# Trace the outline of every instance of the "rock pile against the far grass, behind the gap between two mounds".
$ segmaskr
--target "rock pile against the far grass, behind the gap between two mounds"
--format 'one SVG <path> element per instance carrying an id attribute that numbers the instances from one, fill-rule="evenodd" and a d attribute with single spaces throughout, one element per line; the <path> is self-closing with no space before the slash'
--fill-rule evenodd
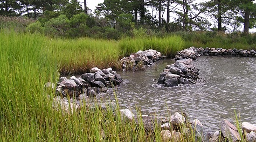
<path id="1" fill-rule="evenodd" d="M 130 54 L 130 57 L 123 57 L 121 59 L 123 69 L 143 69 L 146 66 L 153 65 L 155 62 L 160 61 L 163 57 L 161 53 L 149 49 L 145 51 L 137 51 L 137 53 Z"/>

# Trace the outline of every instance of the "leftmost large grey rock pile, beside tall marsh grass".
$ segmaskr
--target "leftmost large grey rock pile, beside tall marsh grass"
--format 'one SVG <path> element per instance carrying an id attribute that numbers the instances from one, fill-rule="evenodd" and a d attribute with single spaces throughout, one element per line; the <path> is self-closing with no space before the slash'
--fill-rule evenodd
<path id="1" fill-rule="evenodd" d="M 61 77 L 56 88 L 57 95 L 70 98 L 79 97 L 81 94 L 96 96 L 99 92 L 106 92 L 107 88 L 120 85 L 122 78 L 112 68 L 100 70 L 92 68 L 90 73 L 84 73 L 80 77 L 72 76 L 70 79 Z"/>

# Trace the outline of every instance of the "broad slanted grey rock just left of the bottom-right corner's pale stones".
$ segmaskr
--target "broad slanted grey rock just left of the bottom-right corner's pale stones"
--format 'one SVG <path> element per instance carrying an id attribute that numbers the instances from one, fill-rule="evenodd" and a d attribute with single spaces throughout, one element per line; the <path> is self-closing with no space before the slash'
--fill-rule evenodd
<path id="1" fill-rule="evenodd" d="M 238 130 L 236 128 L 236 126 L 234 126 L 233 124 L 231 124 L 229 121 L 227 121 L 226 119 L 223 119 L 220 122 L 220 130 L 223 134 L 223 137 L 232 140 L 232 141 L 238 141 L 241 140 L 241 137 L 238 133 Z"/>

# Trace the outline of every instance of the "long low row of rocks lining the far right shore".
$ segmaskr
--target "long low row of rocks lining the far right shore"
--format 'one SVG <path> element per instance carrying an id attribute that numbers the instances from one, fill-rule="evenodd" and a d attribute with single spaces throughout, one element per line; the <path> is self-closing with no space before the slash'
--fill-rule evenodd
<path id="1" fill-rule="evenodd" d="M 242 56 L 242 57 L 256 57 L 256 51 L 255 50 L 243 50 L 243 49 L 224 49 L 224 48 L 195 48 L 190 47 L 188 49 L 179 51 L 176 56 L 175 60 L 178 59 L 184 59 L 184 58 L 191 58 L 193 60 L 196 60 L 197 57 L 200 55 L 206 55 L 206 56 Z"/>

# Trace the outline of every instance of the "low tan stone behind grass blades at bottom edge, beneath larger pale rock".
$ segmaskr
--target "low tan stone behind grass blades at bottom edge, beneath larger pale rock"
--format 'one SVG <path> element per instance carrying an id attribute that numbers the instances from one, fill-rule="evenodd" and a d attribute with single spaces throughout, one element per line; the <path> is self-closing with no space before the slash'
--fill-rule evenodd
<path id="1" fill-rule="evenodd" d="M 175 131 L 170 130 L 162 130 L 161 132 L 161 139 L 163 142 L 165 141 L 181 141 L 182 134 Z"/>

